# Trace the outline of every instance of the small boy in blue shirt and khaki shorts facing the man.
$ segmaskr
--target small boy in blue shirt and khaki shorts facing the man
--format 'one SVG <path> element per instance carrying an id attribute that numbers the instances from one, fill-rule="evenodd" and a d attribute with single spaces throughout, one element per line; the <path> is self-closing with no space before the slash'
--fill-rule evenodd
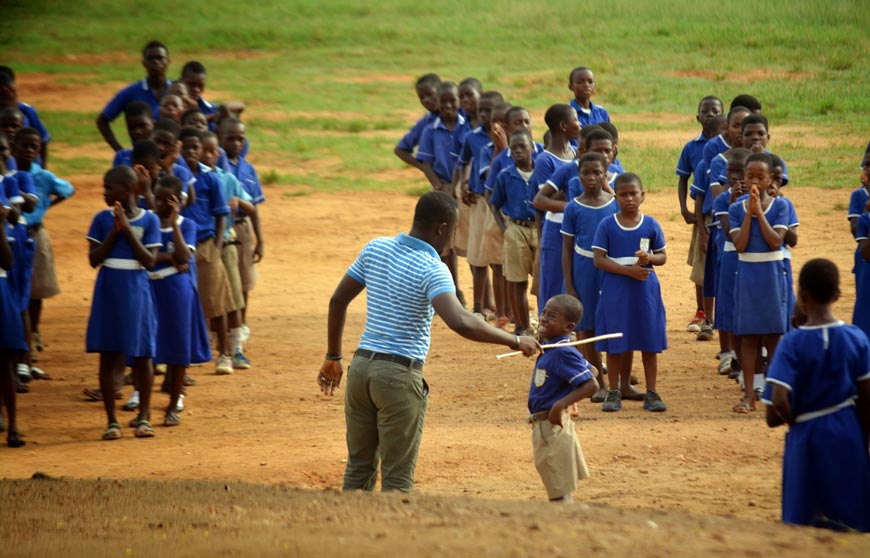
<path id="1" fill-rule="evenodd" d="M 538 335 L 547 343 L 567 343 L 582 315 L 583 306 L 576 298 L 556 295 L 541 312 Z M 572 346 L 549 349 L 535 362 L 529 386 L 529 423 L 535 468 L 551 502 L 570 502 L 577 481 L 589 477 L 568 409 L 595 393 L 597 373 Z"/>

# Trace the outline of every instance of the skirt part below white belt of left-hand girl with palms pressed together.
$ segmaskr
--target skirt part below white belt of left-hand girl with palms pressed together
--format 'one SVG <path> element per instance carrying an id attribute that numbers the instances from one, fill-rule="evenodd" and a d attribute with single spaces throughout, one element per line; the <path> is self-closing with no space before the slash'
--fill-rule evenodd
<path id="1" fill-rule="evenodd" d="M 88 319 L 87 352 L 153 357 L 156 338 L 157 314 L 148 273 L 101 267 Z"/>

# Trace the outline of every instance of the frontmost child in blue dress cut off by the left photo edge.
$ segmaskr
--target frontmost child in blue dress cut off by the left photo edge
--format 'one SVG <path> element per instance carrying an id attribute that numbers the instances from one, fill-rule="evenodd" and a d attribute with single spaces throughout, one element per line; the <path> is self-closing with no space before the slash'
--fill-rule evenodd
<path id="1" fill-rule="evenodd" d="M 14 266 L 11 244 L 15 243 L 15 238 L 8 222 L 10 210 L 11 203 L 6 198 L 5 189 L 0 187 L 0 323 L 3 325 L 0 327 L 0 396 L 3 398 L 2 406 L 6 408 L 6 445 L 18 448 L 25 442 L 18 432 L 15 365 L 18 353 L 27 350 L 27 341 L 7 275 Z M 0 416 L 0 423 L 2 419 Z"/>

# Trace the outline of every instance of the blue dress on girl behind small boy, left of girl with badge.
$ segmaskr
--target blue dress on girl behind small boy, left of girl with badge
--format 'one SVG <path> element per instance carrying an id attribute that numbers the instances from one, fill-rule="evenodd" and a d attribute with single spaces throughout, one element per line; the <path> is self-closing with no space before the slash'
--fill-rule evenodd
<path id="1" fill-rule="evenodd" d="M 615 198 L 599 207 L 582 204 L 576 198 L 565 206 L 562 234 L 574 239 L 574 290 L 583 304 L 583 317 L 575 328 L 577 331 L 595 329 L 595 310 L 598 307 L 604 272 L 592 263 L 592 241 L 595 239 L 598 224 L 617 211 L 619 206 Z"/>

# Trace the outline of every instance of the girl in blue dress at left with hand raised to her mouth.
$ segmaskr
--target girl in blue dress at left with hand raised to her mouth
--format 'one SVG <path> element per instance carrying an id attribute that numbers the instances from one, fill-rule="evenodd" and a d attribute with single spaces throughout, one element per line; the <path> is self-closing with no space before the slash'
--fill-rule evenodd
<path id="1" fill-rule="evenodd" d="M 169 405 L 164 426 L 178 426 L 178 401 L 187 367 L 211 360 L 208 329 L 199 302 L 196 278 L 190 273 L 196 251 L 196 224 L 180 213 L 181 181 L 160 179 L 154 193 L 160 218 L 161 246 L 148 276 L 157 312 L 156 358 L 167 365 Z"/>

